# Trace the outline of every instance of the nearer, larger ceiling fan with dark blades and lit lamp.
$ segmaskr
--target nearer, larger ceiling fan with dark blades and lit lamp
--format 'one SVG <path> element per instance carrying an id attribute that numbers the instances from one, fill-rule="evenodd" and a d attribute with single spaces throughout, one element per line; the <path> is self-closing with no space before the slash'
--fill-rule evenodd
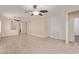
<path id="1" fill-rule="evenodd" d="M 24 11 L 25 11 L 25 13 L 32 12 L 31 16 L 33 16 L 33 15 L 43 16 L 43 13 L 47 13 L 48 12 L 48 10 L 40 10 L 40 11 L 38 11 L 37 5 L 33 5 L 33 11 L 32 10 L 24 10 Z"/>

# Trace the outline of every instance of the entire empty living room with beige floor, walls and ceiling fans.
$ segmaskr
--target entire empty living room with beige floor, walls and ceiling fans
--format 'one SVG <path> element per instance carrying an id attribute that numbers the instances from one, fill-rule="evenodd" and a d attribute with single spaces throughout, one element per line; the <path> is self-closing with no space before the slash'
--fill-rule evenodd
<path id="1" fill-rule="evenodd" d="M 0 54 L 79 53 L 79 5 L 0 5 Z"/>

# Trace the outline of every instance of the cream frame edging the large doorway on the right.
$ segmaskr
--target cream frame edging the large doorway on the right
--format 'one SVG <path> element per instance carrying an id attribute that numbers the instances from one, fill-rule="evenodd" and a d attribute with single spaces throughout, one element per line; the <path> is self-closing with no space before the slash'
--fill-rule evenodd
<path id="1" fill-rule="evenodd" d="M 78 11 L 79 10 L 79 8 L 77 8 L 77 9 L 73 9 L 73 10 L 69 10 L 69 11 L 66 11 L 66 41 L 65 41 L 65 43 L 66 44 L 68 44 L 69 43 L 69 33 L 70 33 L 70 31 L 69 31 L 69 13 L 72 13 L 72 12 L 75 12 L 75 11 Z M 73 24 L 72 24 L 73 25 Z M 72 31 L 72 30 L 71 30 Z M 72 31 L 72 33 L 74 33 L 74 31 Z M 72 36 L 74 36 L 74 34 L 72 34 Z M 74 39 L 74 37 L 71 37 L 73 40 L 75 40 Z M 73 41 L 74 42 L 74 41 Z"/>

